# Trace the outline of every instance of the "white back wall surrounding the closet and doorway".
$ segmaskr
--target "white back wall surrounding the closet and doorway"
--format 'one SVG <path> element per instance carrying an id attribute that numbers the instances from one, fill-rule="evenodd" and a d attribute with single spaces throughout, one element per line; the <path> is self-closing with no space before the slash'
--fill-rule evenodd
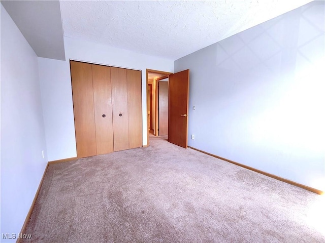
<path id="1" fill-rule="evenodd" d="M 64 37 L 66 61 L 39 58 L 48 159 L 76 155 L 69 60 L 142 70 L 143 144 L 147 144 L 146 68 L 174 71 L 174 61 Z"/>

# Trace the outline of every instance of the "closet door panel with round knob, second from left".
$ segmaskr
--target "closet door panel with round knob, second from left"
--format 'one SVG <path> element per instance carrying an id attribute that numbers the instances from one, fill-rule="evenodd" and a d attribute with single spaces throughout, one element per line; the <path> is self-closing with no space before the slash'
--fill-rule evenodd
<path id="1" fill-rule="evenodd" d="M 97 154 L 111 153 L 113 146 L 111 69 L 92 64 L 92 87 Z"/>

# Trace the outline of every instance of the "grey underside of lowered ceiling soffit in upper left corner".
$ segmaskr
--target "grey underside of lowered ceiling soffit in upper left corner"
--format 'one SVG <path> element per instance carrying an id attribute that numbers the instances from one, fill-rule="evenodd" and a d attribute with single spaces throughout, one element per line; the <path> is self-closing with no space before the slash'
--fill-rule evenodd
<path id="1" fill-rule="evenodd" d="M 66 60 L 58 0 L 1 3 L 38 57 Z"/>

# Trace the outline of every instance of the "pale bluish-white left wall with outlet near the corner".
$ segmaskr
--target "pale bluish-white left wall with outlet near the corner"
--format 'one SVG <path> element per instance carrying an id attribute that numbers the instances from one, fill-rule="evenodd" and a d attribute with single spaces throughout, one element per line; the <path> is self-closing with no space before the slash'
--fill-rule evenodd
<path id="1" fill-rule="evenodd" d="M 0 237 L 20 232 L 46 164 L 37 56 L 1 5 Z"/>

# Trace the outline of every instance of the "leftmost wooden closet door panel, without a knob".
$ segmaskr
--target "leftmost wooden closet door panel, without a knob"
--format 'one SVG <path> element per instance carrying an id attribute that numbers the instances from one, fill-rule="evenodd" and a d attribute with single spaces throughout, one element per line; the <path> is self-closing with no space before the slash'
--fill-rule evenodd
<path id="1" fill-rule="evenodd" d="M 71 61 L 77 156 L 96 155 L 91 64 Z"/>

